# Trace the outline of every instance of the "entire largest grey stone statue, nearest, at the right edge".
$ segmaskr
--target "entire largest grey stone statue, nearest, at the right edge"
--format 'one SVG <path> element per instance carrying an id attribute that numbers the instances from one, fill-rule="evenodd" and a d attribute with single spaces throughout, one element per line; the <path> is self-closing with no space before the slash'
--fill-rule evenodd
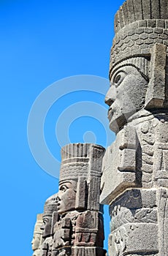
<path id="1" fill-rule="evenodd" d="M 101 203 L 110 205 L 110 256 L 168 255 L 168 2 L 127 0 L 115 15 L 110 129 Z"/>

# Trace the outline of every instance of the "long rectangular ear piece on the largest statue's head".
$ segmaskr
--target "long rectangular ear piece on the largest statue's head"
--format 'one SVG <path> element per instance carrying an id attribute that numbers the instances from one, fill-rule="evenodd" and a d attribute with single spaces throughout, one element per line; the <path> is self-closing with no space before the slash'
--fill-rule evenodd
<path id="1" fill-rule="evenodd" d="M 164 108 L 166 100 L 167 46 L 156 44 L 151 48 L 150 81 L 145 108 Z"/>

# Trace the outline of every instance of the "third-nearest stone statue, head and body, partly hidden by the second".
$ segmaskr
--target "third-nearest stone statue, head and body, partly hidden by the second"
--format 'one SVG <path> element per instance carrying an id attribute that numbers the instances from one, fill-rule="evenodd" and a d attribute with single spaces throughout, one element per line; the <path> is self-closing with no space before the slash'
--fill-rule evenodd
<path id="1" fill-rule="evenodd" d="M 41 226 L 41 230 L 44 241 L 40 247 L 39 256 L 51 256 L 53 246 L 53 225 L 57 219 L 57 194 L 54 194 L 46 200 L 44 214 L 42 214 L 43 225 Z"/>

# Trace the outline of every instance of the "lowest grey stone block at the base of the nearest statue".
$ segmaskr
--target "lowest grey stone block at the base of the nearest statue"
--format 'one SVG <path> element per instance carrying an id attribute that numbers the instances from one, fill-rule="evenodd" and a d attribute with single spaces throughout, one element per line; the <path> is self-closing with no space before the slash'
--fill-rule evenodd
<path id="1" fill-rule="evenodd" d="M 113 255 L 159 252 L 158 227 L 155 224 L 126 224 L 109 236 L 109 252 Z"/>

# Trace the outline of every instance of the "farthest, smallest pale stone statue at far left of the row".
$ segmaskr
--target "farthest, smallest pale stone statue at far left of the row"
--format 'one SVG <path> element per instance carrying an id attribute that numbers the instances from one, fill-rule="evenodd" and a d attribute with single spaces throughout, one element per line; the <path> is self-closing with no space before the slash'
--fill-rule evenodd
<path id="1" fill-rule="evenodd" d="M 34 226 L 34 238 L 31 241 L 32 249 L 34 251 L 33 256 L 39 256 L 39 247 L 42 244 L 42 214 L 37 214 L 37 222 Z"/>

